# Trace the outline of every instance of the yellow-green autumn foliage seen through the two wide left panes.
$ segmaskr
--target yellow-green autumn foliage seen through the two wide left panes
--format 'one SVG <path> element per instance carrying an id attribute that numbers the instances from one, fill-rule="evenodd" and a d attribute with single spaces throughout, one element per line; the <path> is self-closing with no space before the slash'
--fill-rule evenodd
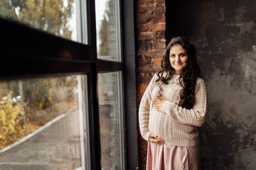
<path id="1" fill-rule="evenodd" d="M 71 39 L 73 31 L 69 21 L 73 17 L 74 2 L 75 0 L 0 1 L 0 17 Z M 17 103 L 13 98 L 21 95 L 18 81 L 0 82 L 0 149 L 33 132 L 38 125 L 43 125 L 35 113 L 52 105 L 49 89 L 53 83 L 53 79 L 23 81 L 23 102 Z"/>

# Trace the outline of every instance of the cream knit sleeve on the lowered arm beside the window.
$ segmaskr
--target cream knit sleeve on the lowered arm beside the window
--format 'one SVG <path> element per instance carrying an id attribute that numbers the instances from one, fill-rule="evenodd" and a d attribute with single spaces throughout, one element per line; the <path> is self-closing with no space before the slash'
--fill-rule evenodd
<path id="1" fill-rule="evenodd" d="M 154 77 L 149 82 L 149 86 L 147 86 L 146 91 L 142 96 L 142 101 L 139 105 L 139 130 L 142 134 L 144 140 L 149 141 L 149 110 L 151 103 L 151 92 L 156 86 L 157 75 L 154 74 Z"/>

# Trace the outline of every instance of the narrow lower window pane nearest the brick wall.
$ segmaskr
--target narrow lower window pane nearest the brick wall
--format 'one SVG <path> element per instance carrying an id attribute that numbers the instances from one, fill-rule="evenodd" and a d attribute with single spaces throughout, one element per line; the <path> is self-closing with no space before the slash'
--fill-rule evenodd
<path id="1" fill-rule="evenodd" d="M 102 169 L 124 169 L 121 72 L 98 74 Z"/>

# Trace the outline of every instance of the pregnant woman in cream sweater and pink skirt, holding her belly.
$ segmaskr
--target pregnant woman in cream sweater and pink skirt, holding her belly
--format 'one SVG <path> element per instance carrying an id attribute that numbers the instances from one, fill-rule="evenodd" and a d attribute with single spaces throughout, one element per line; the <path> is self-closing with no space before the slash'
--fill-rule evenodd
<path id="1" fill-rule="evenodd" d="M 171 39 L 139 106 L 139 127 L 147 140 L 146 169 L 201 169 L 198 128 L 206 120 L 206 84 L 196 50 L 182 37 Z"/>

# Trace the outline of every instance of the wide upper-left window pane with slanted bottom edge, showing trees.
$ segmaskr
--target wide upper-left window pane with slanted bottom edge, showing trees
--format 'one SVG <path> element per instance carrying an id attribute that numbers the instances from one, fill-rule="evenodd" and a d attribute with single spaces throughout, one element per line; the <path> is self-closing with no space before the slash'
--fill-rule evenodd
<path id="1" fill-rule="evenodd" d="M 85 4 L 80 4 L 80 0 L 1 0 L 0 16 L 82 42 L 81 5 Z"/>

